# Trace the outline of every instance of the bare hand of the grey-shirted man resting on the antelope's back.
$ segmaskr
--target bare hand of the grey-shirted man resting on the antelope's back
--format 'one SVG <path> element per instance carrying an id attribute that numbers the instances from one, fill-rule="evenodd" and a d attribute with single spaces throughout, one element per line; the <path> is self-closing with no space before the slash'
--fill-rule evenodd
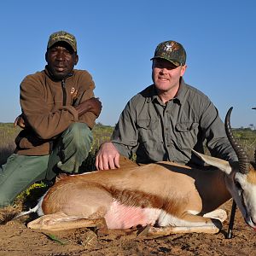
<path id="1" fill-rule="evenodd" d="M 119 152 L 113 143 L 103 143 L 96 154 L 96 169 L 109 170 L 119 168 Z"/>

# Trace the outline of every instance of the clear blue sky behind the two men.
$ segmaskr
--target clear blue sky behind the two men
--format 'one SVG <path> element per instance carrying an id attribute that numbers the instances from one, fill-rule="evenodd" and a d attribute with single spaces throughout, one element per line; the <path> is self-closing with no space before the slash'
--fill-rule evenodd
<path id="1" fill-rule="evenodd" d="M 177 40 L 187 51 L 185 82 L 210 97 L 220 117 L 234 107 L 234 127 L 256 125 L 256 1 L 3 1 L 0 122 L 20 113 L 19 86 L 44 69 L 49 34 L 78 40 L 79 64 L 102 100 L 97 122 L 114 125 L 126 102 L 152 83 L 157 44 Z"/>

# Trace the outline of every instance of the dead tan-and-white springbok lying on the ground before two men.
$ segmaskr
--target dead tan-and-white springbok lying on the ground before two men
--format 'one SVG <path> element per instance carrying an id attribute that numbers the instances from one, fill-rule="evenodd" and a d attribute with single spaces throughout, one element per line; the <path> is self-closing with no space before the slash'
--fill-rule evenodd
<path id="1" fill-rule="evenodd" d="M 41 216 L 32 229 L 67 230 L 79 227 L 128 229 L 147 227 L 150 236 L 178 232 L 217 233 L 227 217 L 218 209 L 231 197 L 246 223 L 256 230 L 256 172 L 230 128 L 225 128 L 238 162 L 195 154 L 212 168 L 200 170 L 162 161 L 60 177 L 38 205 L 25 212 Z M 216 168 L 217 167 L 217 168 Z"/>

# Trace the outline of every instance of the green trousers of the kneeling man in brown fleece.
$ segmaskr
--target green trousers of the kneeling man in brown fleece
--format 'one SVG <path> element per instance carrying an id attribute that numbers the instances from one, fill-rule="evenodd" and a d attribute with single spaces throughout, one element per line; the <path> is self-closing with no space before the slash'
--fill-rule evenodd
<path id="1" fill-rule="evenodd" d="M 73 123 L 55 142 L 51 154 L 11 154 L 6 164 L 0 167 L 0 207 L 12 204 L 15 197 L 32 183 L 51 180 L 59 172 L 79 172 L 91 143 L 90 128 L 83 123 Z"/>

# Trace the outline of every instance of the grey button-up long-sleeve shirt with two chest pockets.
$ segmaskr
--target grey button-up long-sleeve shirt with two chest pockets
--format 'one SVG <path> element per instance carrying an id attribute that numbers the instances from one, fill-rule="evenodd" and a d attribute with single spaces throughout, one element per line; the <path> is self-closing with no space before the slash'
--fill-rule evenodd
<path id="1" fill-rule="evenodd" d="M 126 104 L 113 131 L 119 154 L 137 154 L 138 163 L 170 160 L 202 165 L 191 148 L 203 153 L 206 142 L 212 156 L 237 160 L 225 135 L 218 110 L 200 90 L 181 79 L 177 96 L 163 104 L 154 84 Z"/>

